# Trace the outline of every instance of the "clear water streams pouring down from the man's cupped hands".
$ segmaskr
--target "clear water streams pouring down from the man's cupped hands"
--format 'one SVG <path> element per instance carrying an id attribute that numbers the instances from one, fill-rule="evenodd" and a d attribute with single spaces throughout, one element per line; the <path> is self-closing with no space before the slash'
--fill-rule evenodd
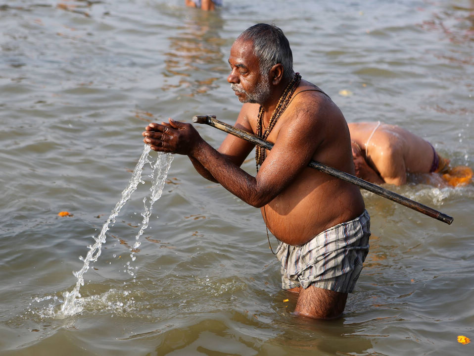
<path id="1" fill-rule="evenodd" d="M 148 227 L 148 221 L 151 215 L 151 208 L 153 206 L 153 203 L 156 202 L 158 199 L 160 199 L 161 194 L 163 193 L 165 180 L 168 175 L 171 162 L 173 161 L 172 154 L 158 153 L 156 160 L 153 162 L 151 159 L 151 156 L 149 155 L 149 152 L 150 152 L 150 147 L 148 145 L 145 145 L 143 148 L 143 153 L 132 173 L 132 178 L 130 179 L 129 185 L 122 192 L 122 197 L 120 201 L 112 209 L 110 216 L 108 217 L 107 221 L 102 226 L 102 230 L 100 231 L 100 234 L 97 237 L 95 236 L 93 237 L 95 240 L 95 244 L 92 246 L 88 246 L 89 251 L 85 258 L 82 256 L 79 257 L 79 259 L 84 261 L 84 265 L 79 271 L 73 272 L 74 276 L 76 276 L 77 278 L 76 285 L 71 292 L 64 292 L 63 294 L 64 302 L 61 305 L 61 309 L 58 311 L 57 316 L 64 317 L 67 315 L 75 314 L 80 311 L 80 307 L 76 306 L 75 302 L 78 298 L 81 298 L 79 289 L 81 288 L 81 286 L 84 285 L 83 276 L 89 270 L 89 264 L 91 262 L 95 262 L 97 258 L 100 256 L 101 247 L 102 247 L 102 244 L 105 243 L 105 240 L 106 240 L 105 234 L 109 230 L 109 225 L 115 223 L 115 218 L 117 217 L 117 215 L 119 214 L 120 210 L 125 205 L 125 203 L 127 203 L 127 201 L 130 199 L 130 197 L 132 196 L 132 193 L 137 189 L 138 184 L 145 183 L 142 180 L 142 171 L 143 171 L 143 166 L 148 163 L 151 166 L 151 174 L 150 174 L 151 195 L 149 199 L 147 199 L 146 197 L 143 198 L 144 208 L 142 211 L 142 217 L 143 217 L 142 227 L 135 237 L 136 242 L 134 246 L 131 248 L 131 254 L 130 254 L 130 256 L 132 257 L 132 261 L 135 260 L 135 255 L 134 255 L 135 251 L 141 245 L 139 238 L 140 236 L 142 236 L 144 230 Z M 127 272 L 131 276 L 133 276 L 135 279 L 135 273 L 132 271 L 133 267 L 130 266 L 130 262 L 127 262 L 126 266 L 127 266 Z"/>

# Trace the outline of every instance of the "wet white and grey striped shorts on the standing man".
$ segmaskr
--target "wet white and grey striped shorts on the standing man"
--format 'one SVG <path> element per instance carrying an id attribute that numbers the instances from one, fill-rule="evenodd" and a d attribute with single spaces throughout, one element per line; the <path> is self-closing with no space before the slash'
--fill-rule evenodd
<path id="1" fill-rule="evenodd" d="M 335 225 L 301 246 L 280 242 L 282 288 L 314 286 L 352 293 L 369 253 L 370 216 L 367 210 L 357 218 Z"/>

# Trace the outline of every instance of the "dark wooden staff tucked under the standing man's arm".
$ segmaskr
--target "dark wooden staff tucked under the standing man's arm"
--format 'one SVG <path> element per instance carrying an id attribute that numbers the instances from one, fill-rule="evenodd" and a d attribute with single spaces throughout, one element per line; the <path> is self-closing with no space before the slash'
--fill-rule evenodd
<path id="1" fill-rule="evenodd" d="M 216 119 L 216 115 L 196 115 L 192 118 L 192 122 L 198 124 L 207 124 L 209 126 L 215 127 L 216 129 L 225 131 L 231 135 L 237 136 L 243 140 L 249 141 L 255 145 L 261 146 L 267 150 L 271 150 L 273 144 L 268 142 L 258 136 L 250 134 L 246 131 L 237 129 L 236 127 L 226 124 L 225 122 L 219 121 Z M 442 212 L 430 208 L 429 206 L 423 205 L 421 203 L 415 202 L 411 199 L 408 199 L 404 196 L 401 196 L 397 193 L 391 192 L 385 188 L 382 188 L 376 184 L 369 183 L 363 179 L 353 176 L 352 174 L 342 172 L 330 166 L 327 166 L 323 163 L 316 162 L 312 160 L 309 164 L 310 167 L 315 168 L 321 172 L 329 174 L 333 177 L 340 178 L 346 182 L 355 184 L 356 186 L 368 190 L 369 192 L 375 193 L 383 198 L 389 199 L 395 203 L 402 204 L 406 207 L 409 207 L 413 210 L 421 212 L 425 215 L 428 215 L 434 219 L 445 222 L 448 225 L 451 225 L 453 218 L 449 215 L 443 214 Z"/>

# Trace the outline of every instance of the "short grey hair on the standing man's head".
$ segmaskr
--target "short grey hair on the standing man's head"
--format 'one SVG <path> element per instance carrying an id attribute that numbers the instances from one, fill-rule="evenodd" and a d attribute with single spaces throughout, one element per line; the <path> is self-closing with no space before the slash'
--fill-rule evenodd
<path id="1" fill-rule="evenodd" d="M 261 74 L 267 75 L 275 64 L 281 63 L 283 78 L 293 78 L 293 53 L 280 28 L 258 23 L 243 31 L 237 40 L 253 42 L 253 54 L 259 60 Z"/>

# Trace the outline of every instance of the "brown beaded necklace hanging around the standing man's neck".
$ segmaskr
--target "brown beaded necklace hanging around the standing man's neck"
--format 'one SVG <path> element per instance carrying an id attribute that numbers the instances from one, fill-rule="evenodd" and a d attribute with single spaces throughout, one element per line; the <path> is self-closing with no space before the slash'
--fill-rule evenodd
<path id="1" fill-rule="evenodd" d="M 262 126 L 263 126 L 263 114 L 265 113 L 265 110 L 260 105 L 260 109 L 258 110 L 257 130 L 256 130 L 256 134 L 258 137 L 261 137 L 264 140 L 267 139 L 273 127 L 277 123 L 277 120 L 280 118 L 280 116 L 282 116 L 284 110 L 286 109 L 289 102 L 291 101 L 290 99 L 293 96 L 293 93 L 298 87 L 300 82 L 301 82 L 301 75 L 299 75 L 299 73 L 296 73 L 293 79 L 291 80 L 291 82 L 289 82 L 286 88 L 284 89 L 284 92 L 282 96 L 280 97 L 280 100 L 278 101 L 277 107 L 275 107 L 275 111 L 273 111 L 273 114 L 270 117 L 270 121 L 268 122 L 268 127 L 265 128 L 265 132 L 263 132 L 263 134 L 262 134 L 262 131 L 263 131 Z M 258 172 L 258 166 L 262 165 L 264 159 L 265 159 L 265 149 L 263 147 L 257 146 L 255 148 L 255 165 L 257 167 L 257 172 Z M 267 212 L 265 211 L 265 206 L 263 207 L 263 212 L 265 215 L 265 227 L 267 229 L 268 246 L 270 247 L 270 250 L 272 251 L 272 253 L 275 254 L 275 252 L 272 249 L 272 245 L 270 244 L 270 237 L 268 235 Z"/>

